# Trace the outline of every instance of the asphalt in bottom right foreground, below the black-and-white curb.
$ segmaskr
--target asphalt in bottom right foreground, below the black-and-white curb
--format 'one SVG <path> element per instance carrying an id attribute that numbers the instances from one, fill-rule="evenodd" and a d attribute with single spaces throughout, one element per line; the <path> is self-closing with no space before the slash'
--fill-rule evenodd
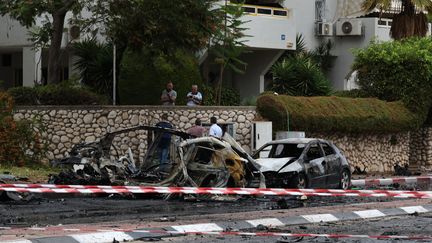
<path id="1" fill-rule="evenodd" d="M 273 232 L 281 233 L 314 233 L 314 234 L 359 234 L 359 235 L 417 235 L 432 236 L 432 214 L 422 214 L 419 216 L 390 217 L 374 220 L 356 220 L 332 223 L 320 223 L 307 226 L 290 226 L 273 229 Z M 259 232 L 259 231 L 257 231 Z M 376 240 L 376 239 L 329 239 L 323 237 L 251 237 L 251 236 L 183 236 L 173 238 L 163 238 L 163 242 L 350 242 L 350 243 L 369 243 L 369 242 L 431 242 L 430 240 Z M 136 241 L 136 242 L 146 242 Z"/>

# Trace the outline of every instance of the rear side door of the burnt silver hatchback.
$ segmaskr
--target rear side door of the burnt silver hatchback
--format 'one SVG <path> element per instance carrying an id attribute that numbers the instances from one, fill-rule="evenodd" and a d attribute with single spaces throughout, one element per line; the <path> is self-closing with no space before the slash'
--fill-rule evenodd
<path id="1" fill-rule="evenodd" d="M 340 157 L 327 142 L 322 141 L 320 144 L 324 151 L 324 159 L 326 161 L 327 185 L 332 187 L 337 186 L 339 185 L 342 163 Z"/>

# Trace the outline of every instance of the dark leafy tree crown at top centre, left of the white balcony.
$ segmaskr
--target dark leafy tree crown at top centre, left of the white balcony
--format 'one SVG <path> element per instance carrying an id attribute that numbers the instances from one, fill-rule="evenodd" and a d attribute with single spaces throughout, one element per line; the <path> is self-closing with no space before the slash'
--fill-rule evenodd
<path id="1" fill-rule="evenodd" d="M 213 7 L 216 2 L 98 0 L 86 6 L 92 17 L 79 22 L 104 26 L 101 32 L 116 45 L 118 64 L 123 63 L 127 50 L 143 51 L 152 60 L 161 56 L 177 60 L 179 51 L 195 53 L 206 46 L 220 21 L 219 10 Z M 122 68 L 117 69 L 118 77 Z M 173 81 L 176 82 L 175 77 Z"/>

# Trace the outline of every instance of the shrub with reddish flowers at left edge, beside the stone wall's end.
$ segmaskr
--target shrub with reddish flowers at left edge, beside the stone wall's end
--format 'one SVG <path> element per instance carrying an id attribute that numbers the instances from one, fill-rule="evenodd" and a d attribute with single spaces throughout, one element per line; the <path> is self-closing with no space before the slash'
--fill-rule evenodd
<path id="1" fill-rule="evenodd" d="M 0 164 L 32 165 L 40 163 L 46 152 L 39 132 L 41 122 L 36 119 L 15 121 L 13 99 L 0 92 Z"/>

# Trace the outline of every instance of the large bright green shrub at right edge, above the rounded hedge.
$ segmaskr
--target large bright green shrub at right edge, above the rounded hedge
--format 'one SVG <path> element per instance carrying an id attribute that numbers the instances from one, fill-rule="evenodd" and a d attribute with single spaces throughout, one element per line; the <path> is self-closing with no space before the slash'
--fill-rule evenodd
<path id="1" fill-rule="evenodd" d="M 432 103 L 432 39 L 372 43 L 355 51 L 361 89 L 386 101 L 401 100 L 426 117 Z"/>

